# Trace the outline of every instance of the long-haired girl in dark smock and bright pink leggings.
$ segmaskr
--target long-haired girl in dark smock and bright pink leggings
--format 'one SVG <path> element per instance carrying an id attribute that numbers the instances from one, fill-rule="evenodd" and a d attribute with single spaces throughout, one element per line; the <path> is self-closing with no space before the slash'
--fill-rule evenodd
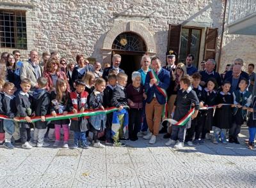
<path id="1" fill-rule="evenodd" d="M 56 82 L 56 89 L 51 92 L 51 101 L 52 108 L 51 113 L 54 117 L 57 116 L 57 113 L 63 113 L 66 115 L 67 112 L 67 103 L 69 99 L 69 94 L 67 90 L 67 82 L 63 79 L 58 79 Z M 68 148 L 68 137 L 69 137 L 69 129 L 68 124 L 70 123 L 69 119 L 63 120 L 54 120 L 51 122 L 55 127 L 55 142 L 53 147 L 58 147 L 60 145 L 60 129 L 63 128 L 64 132 L 64 141 L 63 148 Z"/>

